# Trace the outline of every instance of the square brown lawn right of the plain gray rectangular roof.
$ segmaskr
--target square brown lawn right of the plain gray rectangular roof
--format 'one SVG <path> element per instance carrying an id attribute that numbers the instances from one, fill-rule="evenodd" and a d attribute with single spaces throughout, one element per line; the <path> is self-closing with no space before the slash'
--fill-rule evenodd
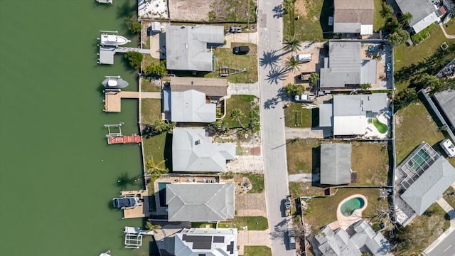
<path id="1" fill-rule="evenodd" d="M 352 142 L 351 163 L 353 171 L 357 171 L 357 183 L 350 185 L 387 185 L 387 143 Z"/>

